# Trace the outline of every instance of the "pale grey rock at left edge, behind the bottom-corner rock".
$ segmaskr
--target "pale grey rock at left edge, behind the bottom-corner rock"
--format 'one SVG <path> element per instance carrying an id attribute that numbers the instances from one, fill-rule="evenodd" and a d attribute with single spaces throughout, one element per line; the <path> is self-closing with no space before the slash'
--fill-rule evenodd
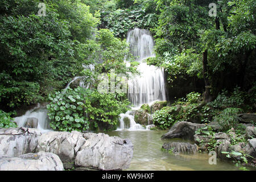
<path id="1" fill-rule="evenodd" d="M 27 127 L 0 128 L 0 156 L 20 156 L 35 152 L 42 133 Z"/>

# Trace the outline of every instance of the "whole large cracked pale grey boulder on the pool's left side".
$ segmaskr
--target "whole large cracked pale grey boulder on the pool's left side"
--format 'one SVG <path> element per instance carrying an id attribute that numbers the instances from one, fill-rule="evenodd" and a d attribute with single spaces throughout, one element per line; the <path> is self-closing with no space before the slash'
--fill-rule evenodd
<path id="1" fill-rule="evenodd" d="M 133 157 L 133 145 L 129 139 L 78 131 L 42 134 L 37 151 L 58 155 L 64 166 L 75 163 L 76 167 L 98 170 L 129 168 Z"/>

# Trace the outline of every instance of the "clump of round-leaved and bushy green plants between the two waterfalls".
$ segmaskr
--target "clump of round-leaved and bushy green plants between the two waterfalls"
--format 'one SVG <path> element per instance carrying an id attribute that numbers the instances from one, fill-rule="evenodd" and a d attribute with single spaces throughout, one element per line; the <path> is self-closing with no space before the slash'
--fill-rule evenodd
<path id="1" fill-rule="evenodd" d="M 116 126 L 119 114 L 125 113 L 129 105 L 120 97 L 81 87 L 56 92 L 49 96 L 51 102 L 47 105 L 50 126 L 59 131 L 86 131 L 90 123 L 97 128 L 100 122 Z"/>

